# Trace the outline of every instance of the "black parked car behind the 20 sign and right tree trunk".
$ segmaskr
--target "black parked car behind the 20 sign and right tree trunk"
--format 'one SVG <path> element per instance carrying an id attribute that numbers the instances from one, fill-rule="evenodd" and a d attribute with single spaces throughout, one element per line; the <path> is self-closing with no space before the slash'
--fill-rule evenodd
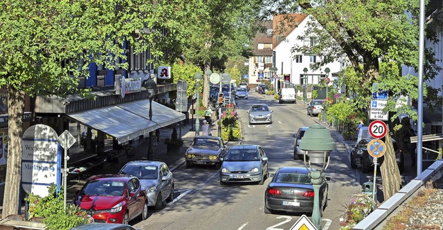
<path id="1" fill-rule="evenodd" d="M 372 163 L 373 157 L 368 153 L 368 144 L 373 138 L 363 138 L 359 143 L 352 146 L 351 151 L 351 169 L 356 169 L 360 166 L 361 171 L 363 173 L 368 173 L 370 169 L 374 168 Z M 400 173 L 404 171 L 404 155 L 399 148 L 399 145 L 392 138 L 392 144 L 394 146 L 395 151 L 395 161 L 397 162 L 397 166 L 399 166 Z M 377 164 L 381 165 L 384 161 L 384 155 L 377 159 Z"/>

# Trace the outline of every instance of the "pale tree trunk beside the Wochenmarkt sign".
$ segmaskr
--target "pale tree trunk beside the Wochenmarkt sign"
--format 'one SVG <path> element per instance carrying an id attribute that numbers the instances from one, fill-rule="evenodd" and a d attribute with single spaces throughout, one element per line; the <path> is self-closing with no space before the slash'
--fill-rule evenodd
<path id="1" fill-rule="evenodd" d="M 21 137 L 23 136 L 24 92 L 6 86 L 8 90 L 8 163 L 6 165 L 3 211 L 5 218 L 19 213 L 19 192 L 21 181 Z M 24 194 L 23 194 L 24 195 Z"/>

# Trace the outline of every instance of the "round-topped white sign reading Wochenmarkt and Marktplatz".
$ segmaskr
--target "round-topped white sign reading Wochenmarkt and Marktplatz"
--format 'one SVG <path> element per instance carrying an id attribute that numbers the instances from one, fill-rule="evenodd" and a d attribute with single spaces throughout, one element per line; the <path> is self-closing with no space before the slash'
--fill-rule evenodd
<path id="1" fill-rule="evenodd" d="M 57 132 L 44 124 L 26 129 L 21 160 L 21 186 L 25 191 L 45 197 L 51 184 L 60 189 L 62 154 L 57 137 Z"/>

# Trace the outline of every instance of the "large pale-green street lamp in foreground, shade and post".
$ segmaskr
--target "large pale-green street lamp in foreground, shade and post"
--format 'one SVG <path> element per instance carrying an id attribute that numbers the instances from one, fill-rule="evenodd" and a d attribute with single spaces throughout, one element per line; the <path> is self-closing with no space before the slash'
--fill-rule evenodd
<path id="1" fill-rule="evenodd" d="M 302 140 L 300 140 L 300 149 L 304 152 L 303 162 L 307 171 L 309 171 L 309 178 L 314 187 L 314 207 L 312 209 L 312 223 L 317 229 L 321 229 L 321 212 L 319 191 L 320 186 L 325 180 L 325 170 L 329 164 L 329 154 L 334 150 L 334 140 L 332 140 L 331 133 L 320 124 L 309 126 Z M 308 156 L 309 160 L 306 160 Z M 307 166 L 309 164 L 309 167 Z"/>

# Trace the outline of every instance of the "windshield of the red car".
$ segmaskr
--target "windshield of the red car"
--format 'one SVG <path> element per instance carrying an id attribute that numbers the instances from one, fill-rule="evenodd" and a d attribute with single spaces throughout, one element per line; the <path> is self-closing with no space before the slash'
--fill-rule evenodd
<path id="1" fill-rule="evenodd" d="M 91 180 L 80 192 L 81 195 L 122 196 L 125 182 L 110 180 Z"/>

